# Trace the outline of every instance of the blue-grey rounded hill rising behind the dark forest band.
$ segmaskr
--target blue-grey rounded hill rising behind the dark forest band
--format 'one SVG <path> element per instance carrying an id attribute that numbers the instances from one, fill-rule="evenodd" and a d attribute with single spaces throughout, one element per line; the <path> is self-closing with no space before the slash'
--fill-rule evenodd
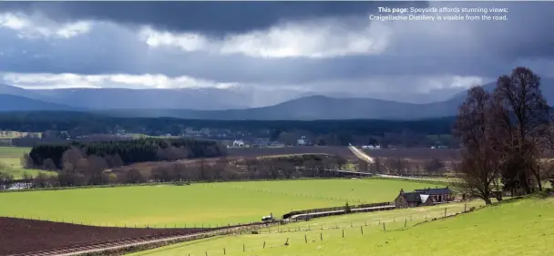
<path id="1" fill-rule="evenodd" d="M 99 111 L 118 117 L 171 117 L 220 120 L 318 120 L 318 119 L 423 119 L 456 114 L 457 105 L 443 102 L 412 104 L 373 98 L 334 98 L 311 96 L 293 99 L 271 107 L 190 110 L 190 109 L 112 109 Z"/>

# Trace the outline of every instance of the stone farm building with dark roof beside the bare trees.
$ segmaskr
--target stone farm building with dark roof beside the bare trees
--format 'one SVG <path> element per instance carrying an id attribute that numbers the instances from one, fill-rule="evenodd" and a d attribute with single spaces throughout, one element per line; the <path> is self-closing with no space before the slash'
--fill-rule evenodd
<path id="1" fill-rule="evenodd" d="M 395 199 L 396 208 L 408 208 L 418 206 L 430 206 L 446 203 L 454 200 L 452 190 L 446 188 L 415 189 L 414 192 L 405 192 L 400 189 L 400 194 Z"/>

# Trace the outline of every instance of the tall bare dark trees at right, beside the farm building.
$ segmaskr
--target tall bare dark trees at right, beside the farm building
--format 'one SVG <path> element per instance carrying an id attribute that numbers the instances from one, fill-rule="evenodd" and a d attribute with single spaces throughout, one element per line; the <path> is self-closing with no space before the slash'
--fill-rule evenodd
<path id="1" fill-rule="evenodd" d="M 498 77 L 492 92 L 472 87 L 453 129 L 463 147 L 458 186 L 470 197 L 491 203 L 495 191 L 513 195 L 554 182 L 549 156 L 554 149 L 554 113 L 540 91 L 540 77 L 517 67 Z"/>

